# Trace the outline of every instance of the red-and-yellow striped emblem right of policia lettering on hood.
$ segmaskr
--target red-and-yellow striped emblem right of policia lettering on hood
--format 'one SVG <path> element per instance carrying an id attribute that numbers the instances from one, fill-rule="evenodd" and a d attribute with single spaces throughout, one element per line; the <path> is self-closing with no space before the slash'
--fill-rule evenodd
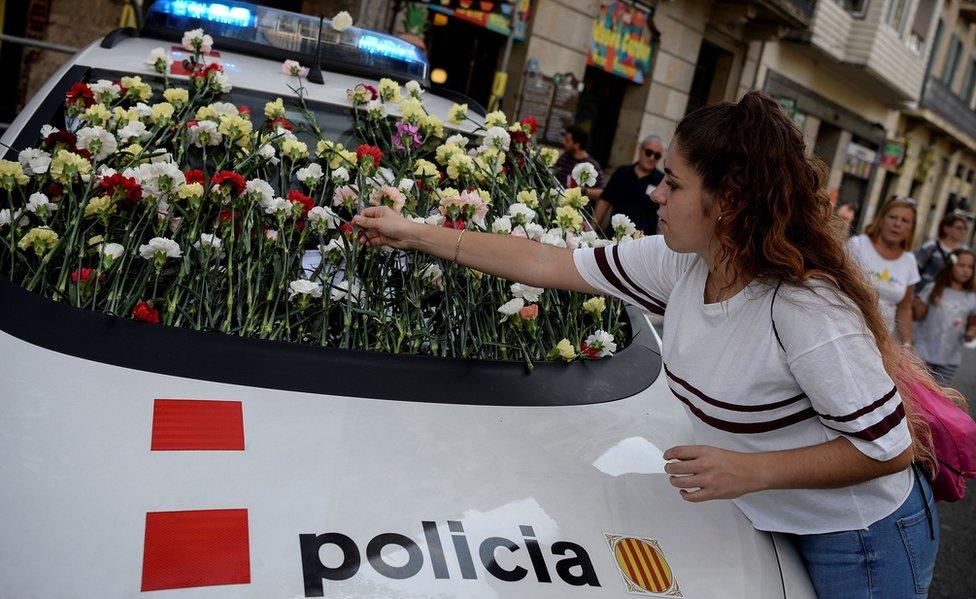
<path id="1" fill-rule="evenodd" d="M 671 566 L 664 559 L 661 543 L 655 539 L 607 534 L 607 543 L 617 562 L 628 593 L 653 597 L 683 598 Z"/>

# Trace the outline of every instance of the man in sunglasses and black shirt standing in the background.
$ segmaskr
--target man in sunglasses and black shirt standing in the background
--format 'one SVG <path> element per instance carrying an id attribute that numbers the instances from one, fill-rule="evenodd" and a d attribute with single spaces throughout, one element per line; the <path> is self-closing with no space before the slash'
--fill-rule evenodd
<path id="1" fill-rule="evenodd" d="M 663 154 L 661 137 L 649 135 L 640 144 L 637 162 L 614 171 L 593 211 L 598 228 L 606 228 L 612 214 L 624 214 L 645 235 L 657 233 L 657 204 L 651 200 L 651 192 L 664 179 L 657 168 Z"/>

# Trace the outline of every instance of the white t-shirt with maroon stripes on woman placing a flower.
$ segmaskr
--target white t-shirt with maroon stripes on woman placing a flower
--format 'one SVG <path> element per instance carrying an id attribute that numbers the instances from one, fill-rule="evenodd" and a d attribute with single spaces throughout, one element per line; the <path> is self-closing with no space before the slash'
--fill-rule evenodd
<path id="1" fill-rule="evenodd" d="M 602 292 L 664 312 L 663 356 L 695 442 L 742 452 L 776 451 L 846 437 L 876 460 L 911 444 L 901 397 L 860 313 L 825 284 L 773 288 L 754 282 L 705 304 L 708 268 L 660 235 L 574 252 L 581 276 Z M 667 308 L 665 310 L 665 308 Z M 840 489 L 750 493 L 735 504 L 760 530 L 814 534 L 864 529 L 911 491 L 910 469 Z"/>

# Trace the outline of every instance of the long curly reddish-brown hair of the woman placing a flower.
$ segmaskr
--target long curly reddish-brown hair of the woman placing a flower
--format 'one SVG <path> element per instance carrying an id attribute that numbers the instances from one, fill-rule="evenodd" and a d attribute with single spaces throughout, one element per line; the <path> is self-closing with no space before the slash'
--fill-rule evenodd
<path id="1" fill-rule="evenodd" d="M 827 169 L 805 153 L 793 121 L 769 96 L 751 91 L 738 102 L 687 115 L 674 145 L 702 178 L 705 211 L 720 210 L 718 258 L 739 280 L 801 286 L 825 280 L 857 306 L 905 404 L 915 459 L 934 471 L 931 433 L 914 409 L 911 386 L 940 387 L 889 331 L 877 291 L 845 250 L 846 225 L 833 214 L 824 189 Z M 942 392 L 965 402 L 955 390 Z"/>

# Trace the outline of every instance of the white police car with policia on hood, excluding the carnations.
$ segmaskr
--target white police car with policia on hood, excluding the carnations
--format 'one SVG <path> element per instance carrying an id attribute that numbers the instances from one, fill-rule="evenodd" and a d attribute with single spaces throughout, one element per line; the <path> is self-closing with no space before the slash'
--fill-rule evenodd
<path id="1" fill-rule="evenodd" d="M 156 2 L 74 56 L 3 137 L 37 139 L 72 84 L 144 71 L 200 24 L 232 96 L 289 93 L 318 19 Z M 323 40 L 319 125 L 347 88 L 426 80 L 413 46 Z M 445 116 L 455 98 L 429 97 Z M 0 281 L 0 596 L 813 597 L 788 543 L 682 501 L 690 441 L 638 311 L 611 360 L 569 366 L 254 341 L 77 310 Z"/>

